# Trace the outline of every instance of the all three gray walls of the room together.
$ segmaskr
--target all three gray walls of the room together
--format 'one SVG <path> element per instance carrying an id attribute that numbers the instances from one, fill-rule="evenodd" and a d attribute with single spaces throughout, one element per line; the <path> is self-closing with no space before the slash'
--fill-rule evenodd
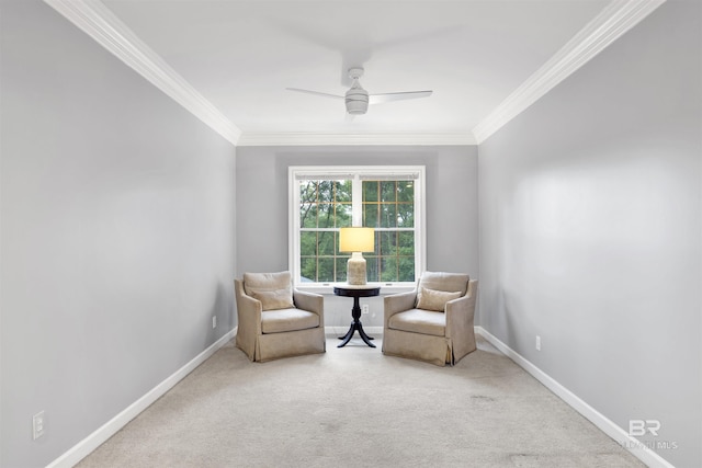
<path id="1" fill-rule="evenodd" d="M 244 147 L 236 169 L 52 9 L 0 5 L 0 466 L 54 460 L 230 330 L 235 273 L 287 267 L 302 164 L 427 165 L 428 270 L 479 273 L 480 324 L 620 426 L 659 419 L 648 440 L 678 447 L 659 453 L 702 465 L 698 2 L 669 0 L 479 160 Z M 328 299 L 327 324 L 348 327 L 350 304 Z M 380 326 L 380 299 L 372 312 Z"/>

